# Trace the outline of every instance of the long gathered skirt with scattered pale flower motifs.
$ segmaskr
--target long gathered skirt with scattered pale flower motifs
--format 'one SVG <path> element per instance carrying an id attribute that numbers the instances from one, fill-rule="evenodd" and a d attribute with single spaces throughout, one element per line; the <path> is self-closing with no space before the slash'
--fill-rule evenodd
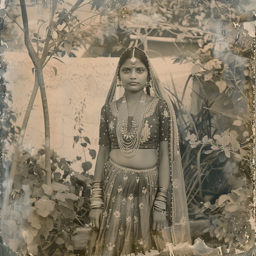
<path id="1" fill-rule="evenodd" d="M 104 169 L 103 219 L 99 232 L 90 233 L 90 256 L 128 256 L 165 248 L 162 233 L 151 230 L 157 180 L 157 166 L 139 170 L 108 160 Z"/>

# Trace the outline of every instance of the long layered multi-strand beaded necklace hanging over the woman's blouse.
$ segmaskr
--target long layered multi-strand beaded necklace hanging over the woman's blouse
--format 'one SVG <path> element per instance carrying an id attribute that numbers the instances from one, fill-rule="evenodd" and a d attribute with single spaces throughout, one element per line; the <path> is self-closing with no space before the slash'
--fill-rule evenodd
<path id="1" fill-rule="evenodd" d="M 122 154 L 128 158 L 133 157 L 137 153 L 142 140 L 146 97 L 146 93 L 143 92 L 135 110 L 130 131 L 127 130 L 128 108 L 125 94 L 119 107 L 116 123 L 117 142 Z"/>

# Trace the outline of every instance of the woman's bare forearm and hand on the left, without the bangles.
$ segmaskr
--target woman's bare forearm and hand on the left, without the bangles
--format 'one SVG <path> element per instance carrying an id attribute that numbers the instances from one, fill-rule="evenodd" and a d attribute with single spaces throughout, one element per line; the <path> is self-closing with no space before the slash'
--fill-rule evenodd
<path id="1" fill-rule="evenodd" d="M 109 153 L 111 148 L 99 146 L 99 153 L 96 160 L 95 172 L 93 181 L 103 181 L 103 172 L 105 163 L 109 160 Z M 103 217 L 103 208 L 91 209 L 89 218 L 96 230 L 99 230 Z"/>

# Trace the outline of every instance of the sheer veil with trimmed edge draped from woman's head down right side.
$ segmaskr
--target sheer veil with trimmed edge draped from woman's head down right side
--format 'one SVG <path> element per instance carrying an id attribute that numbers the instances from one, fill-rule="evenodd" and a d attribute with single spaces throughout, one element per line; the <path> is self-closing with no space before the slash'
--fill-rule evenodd
<path id="1" fill-rule="evenodd" d="M 132 47 L 127 49 L 126 51 L 134 48 L 139 49 L 137 47 Z M 139 50 L 143 52 L 143 50 L 141 49 Z M 169 114 L 170 114 L 169 157 L 170 157 L 171 179 L 170 179 L 168 204 L 167 204 L 167 212 L 168 212 L 170 227 L 168 227 L 167 230 L 169 231 L 169 233 L 171 233 L 172 243 L 174 245 L 180 242 L 184 243 L 187 241 L 189 241 L 189 243 L 191 244 L 189 215 L 188 215 L 188 208 L 187 208 L 187 201 L 186 201 L 186 190 L 185 190 L 185 183 L 184 183 L 184 177 L 183 177 L 183 169 L 181 164 L 181 157 L 179 152 L 179 141 L 178 141 L 179 139 L 178 139 L 175 111 L 172 106 L 172 102 L 166 93 L 166 89 L 163 83 L 160 82 L 160 79 L 158 78 L 156 71 L 151 65 L 148 55 L 145 52 L 144 54 L 148 61 L 148 69 L 150 73 L 154 96 L 160 99 L 164 99 L 166 101 L 169 107 Z M 118 80 L 118 71 L 119 71 L 119 62 L 116 68 L 113 82 L 108 92 L 106 103 L 112 102 L 115 96 L 116 85 Z M 167 230 L 166 228 L 163 230 L 162 232 L 163 236 Z"/>

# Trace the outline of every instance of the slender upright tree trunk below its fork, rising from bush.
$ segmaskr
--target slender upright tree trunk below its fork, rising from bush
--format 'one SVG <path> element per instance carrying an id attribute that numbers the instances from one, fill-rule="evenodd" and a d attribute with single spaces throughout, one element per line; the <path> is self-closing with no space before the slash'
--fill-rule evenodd
<path id="1" fill-rule="evenodd" d="M 43 111 L 44 111 L 44 134 L 45 134 L 45 172 L 46 172 L 46 184 L 51 184 L 52 170 L 51 170 L 51 154 L 50 154 L 50 122 L 49 111 L 47 105 L 47 97 L 44 86 L 43 68 L 41 63 L 37 65 L 38 82 L 41 91 Z"/>

